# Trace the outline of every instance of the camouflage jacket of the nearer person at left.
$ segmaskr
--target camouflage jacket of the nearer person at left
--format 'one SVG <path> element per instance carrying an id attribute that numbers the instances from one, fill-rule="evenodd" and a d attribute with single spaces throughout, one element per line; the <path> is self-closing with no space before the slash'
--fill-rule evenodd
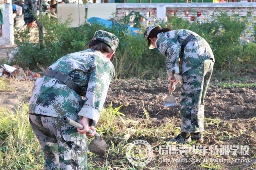
<path id="1" fill-rule="evenodd" d="M 70 76 L 86 91 L 85 99 L 59 80 L 44 76 L 35 81 L 29 113 L 52 117 L 78 114 L 96 125 L 114 76 L 112 62 L 100 51 L 88 49 L 65 55 L 48 69 Z"/>

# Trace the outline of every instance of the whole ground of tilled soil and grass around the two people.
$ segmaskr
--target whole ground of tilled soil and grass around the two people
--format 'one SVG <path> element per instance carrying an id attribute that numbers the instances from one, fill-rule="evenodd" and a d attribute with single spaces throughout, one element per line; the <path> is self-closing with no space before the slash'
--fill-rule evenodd
<path id="1" fill-rule="evenodd" d="M 43 169 L 42 151 L 27 119 L 33 81 L 0 80 L 0 169 Z M 249 155 L 159 155 L 159 146 L 166 145 L 167 138 L 180 132 L 180 84 L 173 92 L 178 105 L 168 108 L 163 106 L 168 94 L 166 80 L 113 80 L 97 124 L 98 132 L 103 132 L 107 142 L 107 153 L 99 157 L 89 152 L 89 169 L 240 169 L 247 166 L 246 162 L 232 160 L 255 159 L 254 82 L 239 82 L 240 87 L 211 84 L 205 99 L 204 141 L 188 145 L 247 145 Z M 118 108 L 120 105 L 123 106 Z M 128 144 L 137 139 L 146 140 L 153 147 L 153 160 L 146 167 L 135 167 L 125 157 Z M 199 158 L 229 159 L 230 162 L 179 162 Z M 161 162 L 167 159 L 171 162 Z M 255 163 L 247 168 L 253 167 Z"/>

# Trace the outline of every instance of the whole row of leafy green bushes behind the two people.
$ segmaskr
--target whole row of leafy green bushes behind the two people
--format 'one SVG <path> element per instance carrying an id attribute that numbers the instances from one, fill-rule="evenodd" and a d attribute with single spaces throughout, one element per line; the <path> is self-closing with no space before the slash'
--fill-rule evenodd
<path id="1" fill-rule="evenodd" d="M 144 39 L 143 34 L 129 34 L 123 25 L 125 18 L 118 20 L 112 28 L 106 28 L 97 22 L 84 23 L 78 28 L 68 28 L 68 22 L 59 23 L 57 19 L 49 18 L 47 15 L 42 20 L 45 27 L 44 47 L 40 47 L 38 40 L 32 39 L 26 30 L 18 31 L 16 44 L 19 51 L 15 54 L 15 64 L 23 68 L 30 67 L 32 70 L 38 69 L 37 63 L 48 67 L 66 54 L 83 50 L 96 30 L 106 30 L 115 34 L 120 40 L 114 60 L 117 78 L 155 79 L 166 76 L 165 57 L 157 49 L 147 48 L 147 40 Z M 172 30 L 188 29 L 205 38 L 215 55 L 215 70 L 218 72 L 239 74 L 256 65 L 255 42 L 246 44 L 240 42 L 240 36 L 246 25 L 250 23 L 246 18 L 240 20 L 236 16 L 222 13 L 215 20 L 207 23 L 190 23 L 176 16 L 169 17 L 166 23 L 159 23 L 162 27 Z"/>

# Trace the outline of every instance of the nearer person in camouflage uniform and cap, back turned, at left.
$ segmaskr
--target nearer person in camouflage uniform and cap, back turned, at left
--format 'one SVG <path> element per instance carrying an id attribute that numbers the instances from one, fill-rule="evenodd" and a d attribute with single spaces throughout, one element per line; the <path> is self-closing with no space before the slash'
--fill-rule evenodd
<path id="1" fill-rule="evenodd" d="M 47 70 L 70 76 L 83 89 L 82 96 L 66 84 L 50 76 L 35 81 L 29 104 L 29 121 L 44 151 L 47 170 L 87 169 L 87 146 L 84 134 L 93 130 L 114 76 L 110 61 L 118 46 L 118 38 L 98 30 L 84 51 L 65 55 Z M 46 70 L 46 72 L 47 72 Z M 68 116 L 84 129 L 76 129 L 62 122 Z"/>

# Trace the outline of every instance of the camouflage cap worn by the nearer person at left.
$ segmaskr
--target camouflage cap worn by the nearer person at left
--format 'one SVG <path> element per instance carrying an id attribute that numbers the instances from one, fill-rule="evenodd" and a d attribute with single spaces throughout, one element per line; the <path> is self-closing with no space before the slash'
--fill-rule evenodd
<path id="1" fill-rule="evenodd" d="M 107 45 L 109 45 L 113 51 L 116 51 L 119 43 L 119 40 L 116 35 L 103 30 L 95 31 L 93 39 L 91 40 L 102 41 L 103 43 L 106 43 Z"/>

